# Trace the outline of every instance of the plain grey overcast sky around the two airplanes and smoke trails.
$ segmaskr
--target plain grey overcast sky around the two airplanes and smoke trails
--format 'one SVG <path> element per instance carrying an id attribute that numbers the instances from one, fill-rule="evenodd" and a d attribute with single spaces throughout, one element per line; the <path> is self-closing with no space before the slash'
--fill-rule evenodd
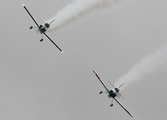
<path id="1" fill-rule="evenodd" d="M 120 0 L 121 1 L 121 0 Z M 115 9 L 97 8 L 48 35 L 64 50 L 29 30 L 72 0 L 2 0 L 0 40 L 1 120 L 166 119 L 167 66 L 146 74 L 122 91 L 116 102 L 99 95 L 102 80 L 115 83 L 143 58 L 167 44 L 167 1 L 133 0 Z M 150 66 L 151 67 L 151 66 Z M 126 84 L 126 83 L 125 83 Z"/>

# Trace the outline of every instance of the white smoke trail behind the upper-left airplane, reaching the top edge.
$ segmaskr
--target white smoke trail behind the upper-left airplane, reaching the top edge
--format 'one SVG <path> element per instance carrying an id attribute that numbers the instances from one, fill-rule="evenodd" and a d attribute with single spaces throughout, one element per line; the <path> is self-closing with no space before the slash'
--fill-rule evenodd
<path id="1" fill-rule="evenodd" d="M 92 8 L 98 7 L 100 5 L 113 5 L 116 2 L 123 0 L 74 0 L 72 3 L 68 4 L 65 8 L 57 12 L 50 20 L 55 21 L 52 23 L 52 29 L 58 29 L 69 21 L 77 18 L 79 15 L 91 10 Z"/>

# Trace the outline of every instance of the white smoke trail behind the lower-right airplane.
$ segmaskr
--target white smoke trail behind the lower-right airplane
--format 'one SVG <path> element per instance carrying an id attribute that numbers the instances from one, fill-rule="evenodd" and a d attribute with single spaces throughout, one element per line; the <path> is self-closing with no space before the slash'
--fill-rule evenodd
<path id="1" fill-rule="evenodd" d="M 144 75 L 165 65 L 167 65 L 167 44 L 134 65 L 127 74 L 118 79 L 115 86 L 125 83 L 121 87 L 121 90 L 124 90 L 128 85 L 141 80 Z"/>

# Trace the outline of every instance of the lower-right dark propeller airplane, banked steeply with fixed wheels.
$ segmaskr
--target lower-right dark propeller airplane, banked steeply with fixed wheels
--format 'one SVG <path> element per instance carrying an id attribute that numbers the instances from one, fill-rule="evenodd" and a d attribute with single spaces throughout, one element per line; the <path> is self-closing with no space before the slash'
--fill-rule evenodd
<path id="1" fill-rule="evenodd" d="M 101 82 L 101 84 L 104 86 L 104 88 L 107 90 L 106 93 L 108 93 L 108 97 L 109 97 L 109 98 L 112 98 L 112 103 L 111 103 L 110 107 L 113 106 L 113 99 L 114 99 L 131 117 L 133 117 L 133 115 L 115 98 L 116 96 L 119 96 L 119 95 L 122 97 L 122 95 L 120 94 L 120 87 L 121 87 L 124 83 L 123 83 L 122 85 L 120 85 L 119 88 L 118 88 L 118 87 L 113 86 L 113 85 L 111 84 L 111 82 L 109 82 L 109 83 L 114 87 L 114 90 L 109 90 L 109 89 L 106 87 L 106 85 L 103 83 L 103 81 L 101 80 L 101 78 L 99 77 L 99 75 L 96 73 L 96 71 L 93 70 L 93 72 L 94 72 L 94 74 L 96 75 L 96 77 L 99 79 L 99 81 Z M 103 92 L 103 91 L 100 91 L 100 92 L 99 92 L 99 94 L 102 94 L 102 93 L 105 93 L 105 92 Z M 122 98 L 123 98 L 123 97 L 122 97 Z"/>

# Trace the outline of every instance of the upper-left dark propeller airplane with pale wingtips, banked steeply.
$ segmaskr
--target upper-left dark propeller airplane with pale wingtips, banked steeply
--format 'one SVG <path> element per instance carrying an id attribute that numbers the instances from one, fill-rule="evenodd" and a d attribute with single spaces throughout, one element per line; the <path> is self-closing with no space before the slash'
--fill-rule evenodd
<path id="1" fill-rule="evenodd" d="M 30 26 L 30 29 L 38 28 L 38 31 L 42 34 L 42 38 L 41 38 L 40 42 L 43 41 L 43 35 L 45 35 L 60 50 L 60 52 L 63 53 L 63 50 L 45 33 L 48 29 L 50 29 L 50 25 L 55 21 L 55 19 L 52 20 L 50 23 L 48 23 L 48 22 L 45 22 L 45 20 L 41 17 L 41 19 L 42 19 L 42 21 L 44 23 L 39 25 L 37 23 L 37 21 L 35 20 L 35 18 L 32 16 L 32 14 L 29 12 L 29 10 L 27 9 L 27 7 L 24 4 L 23 4 L 23 7 L 27 11 L 27 13 L 30 15 L 32 20 L 35 22 L 35 24 L 37 25 L 37 27 Z M 52 29 L 50 29 L 50 30 L 54 33 L 54 31 Z"/>

